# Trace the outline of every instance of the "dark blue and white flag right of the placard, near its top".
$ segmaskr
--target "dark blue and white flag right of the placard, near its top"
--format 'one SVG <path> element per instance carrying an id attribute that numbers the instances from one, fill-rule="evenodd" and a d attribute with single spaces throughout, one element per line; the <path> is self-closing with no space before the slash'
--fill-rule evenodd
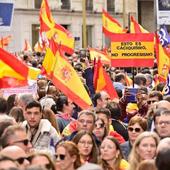
<path id="1" fill-rule="evenodd" d="M 158 35 L 159 35 L 159 41 L 163 47 L 166 47 L 168 44 L 170 44 L 170 35 L 168 34 L 165 25 L 162 25 L 160 27 Z"/>

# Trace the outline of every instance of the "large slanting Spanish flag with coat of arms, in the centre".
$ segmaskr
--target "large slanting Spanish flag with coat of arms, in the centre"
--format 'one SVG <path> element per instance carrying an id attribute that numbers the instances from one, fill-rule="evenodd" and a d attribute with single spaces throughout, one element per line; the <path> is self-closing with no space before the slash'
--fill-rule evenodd
<path id="1" fill-rule="evenodd" d="M 52 67 L 51 80 L 55 86 L 82 109 L 88 109 L 92 101 L 78 74 L 60 51 L 56 52 Z"/>

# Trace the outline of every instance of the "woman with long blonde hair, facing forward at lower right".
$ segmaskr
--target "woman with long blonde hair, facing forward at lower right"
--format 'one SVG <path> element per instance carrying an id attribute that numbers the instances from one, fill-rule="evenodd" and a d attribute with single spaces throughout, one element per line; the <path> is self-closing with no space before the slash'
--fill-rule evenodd
<path id="1" fill-rule="evenodd" d="M 159 137 L 155 132 L 141 133 L 135 140 L 129 155 L 128 170 L 136 170 L 139 163 L 143 160 L 154 159 L 158 143 Z"/>

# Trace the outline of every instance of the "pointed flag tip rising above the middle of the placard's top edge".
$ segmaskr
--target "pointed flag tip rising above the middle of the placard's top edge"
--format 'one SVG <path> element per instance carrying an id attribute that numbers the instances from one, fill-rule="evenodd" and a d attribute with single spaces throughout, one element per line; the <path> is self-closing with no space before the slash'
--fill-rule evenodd
<path id="1" fill-rule="evenodd" d="M 133 16 L 130 17 L 130 33 L 149 33 L 140 24 L 137 23 Z"/>

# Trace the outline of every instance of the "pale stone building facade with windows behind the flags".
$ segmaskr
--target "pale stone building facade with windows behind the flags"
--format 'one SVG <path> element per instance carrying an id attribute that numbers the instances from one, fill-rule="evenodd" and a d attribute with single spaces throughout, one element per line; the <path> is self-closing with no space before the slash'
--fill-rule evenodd
<path id="1" fill-rule="evenodd" d="M 25 39 L 32 47 L 37 42 L 41 1 L 14 0 L 15 8 L 11 30 L 9 32 L 0 31 L 0 37 L 12 35 L 12 41 L 8 46 L 8 50 L 11 52 L 21 51 Z M 82 0 L 48 0 L 48 3 L 56 22 L 67 28 L 74 36 L 75 48 L 82 48 Z M 125 4 L 124 8 L 123 4 Z M 102 34 L 103 8 L 122 26 L 128 26 L 129 15 L 138 16 L 138 5 L 137 0 L 86 0 L 87 44 L 98 48 L 105 46 L 105 37 Z M 140 12 L 141 15 L 144 15 L 142 9 Z M 145 23 L 145 20 L 140 19 L 141 23 Z"/>

